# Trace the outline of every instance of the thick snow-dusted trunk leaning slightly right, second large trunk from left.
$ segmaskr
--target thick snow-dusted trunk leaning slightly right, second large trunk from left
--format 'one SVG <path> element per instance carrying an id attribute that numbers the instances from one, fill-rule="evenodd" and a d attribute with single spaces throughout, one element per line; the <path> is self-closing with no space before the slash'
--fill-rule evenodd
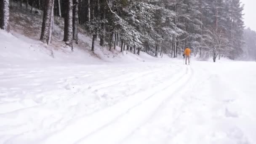
<path id="1" fill-rule="evenodd" d="M 40 40 L 43 43 L 51 43 L 52 24 L 53 24 L 53 5 L 54 0 L 46 0 L 43 12 L 43 24 Z"/>

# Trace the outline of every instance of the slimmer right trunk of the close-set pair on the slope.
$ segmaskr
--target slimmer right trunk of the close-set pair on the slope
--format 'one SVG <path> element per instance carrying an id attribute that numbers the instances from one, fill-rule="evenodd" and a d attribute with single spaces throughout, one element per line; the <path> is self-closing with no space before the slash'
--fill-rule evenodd
<path id="1" fill-rule="evenodd" d="M 73 40 L 75 40 L 75 43 L 78 44 L 78 0 L 73 0 L 73 3 Z"/>

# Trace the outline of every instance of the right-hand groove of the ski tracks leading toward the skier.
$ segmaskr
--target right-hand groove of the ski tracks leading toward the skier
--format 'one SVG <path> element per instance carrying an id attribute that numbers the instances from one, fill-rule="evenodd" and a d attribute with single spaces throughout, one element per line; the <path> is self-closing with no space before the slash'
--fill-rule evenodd
<path id="1" fill-rule="evenodd" d="M 75 144 L 84 144 L 84 143 L 93 143 L 93 144 L 98 144 L 102 139 L 106 144 L 119 144 L 120 142 L 119 139 L 123 139 L 123 137 L 127 136 L 128 133 L 131 131 L 137 129 L 139 126 L 143 125 L 145 123 L 145 120 L 150 120 L 154 114 L 156 113 L 157 110 L 166 102 L 172 95 L 174 95 L 177 91 L 180 91 L 180 88 L 182 85 L 184 85 L 185 82 L 187 82 L 188 77 L 192 76 L 192 72 L 189 68 L 186 69 L 186 73 L 181 75 L 177 80 L 175 80 L 173 83 L 170 85 L 166 86 L 160 91 L 157 91 L 157 93 L 154 93 L 153 95 L 149 96 L 147 99 L 142 101 L 139 105 L 136 105 L 136 107 L 132 107 L 128 109 L 123 115 L 120 115 L 115 118 L 115 121 L 112 121 L 111 123 L 108 123 L 107 125 L 104 125 L 102 128 L 98 129 L 97 131 L 94 131 L 93 133 L 89 134 L 88 136 L 85 136 L 83 139 L 80 139 L 77 141 Z M 184 81 L 184 82 L 183 82 Z M 181 82 L 181 83 L 179 83 Z M 174 84 L 177 84 L 175 89 L 173 91 L 170 91 L 169 88 L 173 86 Z M 148 108 L 149 104 L 155 104 L 152 109 L 149 110 L 149 114 L 145 115 L 144 113 L 146 112 L 145 109 Z M 145 107 L 144 109 L 142 109 Z M 148 110 L 148 109 L 147 109 Z M 140 113 L 137 113 L 137 112 Z M 131 120 L 132 118 L 136 117 L 138 120 Z M 120 120 L 123 119 L 123 120 Z M 135 124 L 133 124 L 135 123 Z M 123 126 L 123 125 L 128 125 L 128 126 Z M 122 128 L 122 135 L 120 136 L 119 128 Z M 127 129 L 127 130 L 125 130 Z M 109 133 L 109 131 L 114 131 L 114 133 Z M 123 133 L 123 132 L 126 133 Z M 91 136 L 91 137 L 90 137 Z M 101 137 L 102 139 L 98 139 L 98 136 Z"/>

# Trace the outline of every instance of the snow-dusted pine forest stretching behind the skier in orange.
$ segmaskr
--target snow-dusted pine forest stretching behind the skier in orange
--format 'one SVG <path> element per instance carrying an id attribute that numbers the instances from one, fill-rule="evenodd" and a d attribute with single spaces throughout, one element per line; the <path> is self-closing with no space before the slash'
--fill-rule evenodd
<path id="1" fill-rule="evenodd" d="M 9 30 L 9 5 L 0 1 L 0 27 Z M 184 48 L 201 59 L 248 57 L 240 0 L 16 0 L 43 11 L 41 35 L 51 44 L 53 17 L 64 18 L 64 43 L 73 51 L 78 27 L 109 50 L 176 58 Z M 248 38 L 247 38 L 248 39 Z M 255 41 L 255 40 L 254 40 Z M 254 57 L 250 55 L 250 57 Z"/>

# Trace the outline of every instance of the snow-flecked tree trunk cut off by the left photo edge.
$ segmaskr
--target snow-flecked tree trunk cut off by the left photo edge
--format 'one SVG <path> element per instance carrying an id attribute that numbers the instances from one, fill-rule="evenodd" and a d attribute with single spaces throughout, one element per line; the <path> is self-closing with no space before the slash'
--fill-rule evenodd
<path id="1" fill-rule="evenodd" d="M 9 0 L 0 0 L 0 29 L 10 31 L 9 26 Z"/>

